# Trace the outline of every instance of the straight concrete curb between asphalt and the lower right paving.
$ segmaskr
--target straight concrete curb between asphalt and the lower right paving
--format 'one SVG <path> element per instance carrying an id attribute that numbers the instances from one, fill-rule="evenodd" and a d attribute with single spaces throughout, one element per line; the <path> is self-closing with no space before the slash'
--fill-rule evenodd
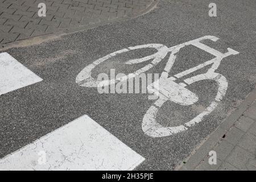
<path id="1" fill-rule="evenodd" d="M 228 118 L 226 118 L 220 126 L 218 126 L 217 129 L 208 136 L 208 138 L 204 139 L 203 142 L 201 142 L 199 146 L 192 151 L 191 155 L 185 160 L 187 162 L 185 164 L 181 162 L 175 170 L 192 171 L 199 166 L 200 162 L 204 160 L 209 151 L 212 150 L 212 148 L 226 133 L 228 133 L 230 127 L 232 127 L 246 109 L 253 104 L 254 100 L 256 100 L 256 87 L 249 95 L 246 96 L 245 100 L 237 107 L 237 109 L 234 110 L 233 113 L 230 114 Z"/>

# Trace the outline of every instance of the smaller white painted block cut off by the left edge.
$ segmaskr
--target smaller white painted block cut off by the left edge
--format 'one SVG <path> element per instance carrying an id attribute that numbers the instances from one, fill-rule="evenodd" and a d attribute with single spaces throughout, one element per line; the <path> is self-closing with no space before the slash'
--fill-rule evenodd
<path id="1" fill-rule="evenodd" d="M 42 80 L 9 53 L 0 53 L 0 96 Z"/>

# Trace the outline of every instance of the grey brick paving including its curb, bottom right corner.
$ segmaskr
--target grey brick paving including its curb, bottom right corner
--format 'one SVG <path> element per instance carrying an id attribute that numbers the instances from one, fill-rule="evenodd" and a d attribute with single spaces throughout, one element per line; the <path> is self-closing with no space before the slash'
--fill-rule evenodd
<path id="1" fill-rule="evenodd" d="M 217 164 L 209 164 L 216 151 Z M 256 170 L 256 88 L 177 170 Z"/>

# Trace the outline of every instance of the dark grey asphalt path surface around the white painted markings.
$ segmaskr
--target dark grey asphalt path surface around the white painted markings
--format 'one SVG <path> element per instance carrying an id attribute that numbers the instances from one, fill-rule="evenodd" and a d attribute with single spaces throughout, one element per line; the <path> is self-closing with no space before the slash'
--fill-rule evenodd
<path id="1" fill-rule="evenodd" d="M 146 160 L 139 170 L 172 170 L 191 154 L 226 116 L 253 90 L 256 82 L 256 2 L 255 0 L 214 1 L 217 17 L 209 17 L 211 1 L 160 1 L 148 14 L 123 22 L 77 32 L 39 45 L 11 48 L 5 52 L 43 78 L 42 82 L 0 96 L 0 158 L 37 138 L 87 114 Z M 148 94 L 98 94 L 96 88 L 85 88 L 75 79 L 86 65 L 122 48 L 159 43 L 172 47 L 205 35 L 219 38 L 205 41 L 220 52 L 230 47 L 238 55 L 222 60 L 217 73 L 229 83 L 226 96 L 217 109 L 199 124 L 183 133 L 150 138 L 141 129 L 143 115 L 154 101 Z M 144 64 L 122 63 L 152 53 L 151 49 L 123 53 L 99 65 L 94 76 L 106 68 L 129 73 Z M 212 55 L 194 47 L 179 52 L 170 75 L 212 59 Z M 147 73 L 161 73 L 165 61 Z M 197 73 L 204 73 L 201 69 Z M 185 123 L 207 107 L 217 88 L 214 82 L 201 81 L 188 89 L 199 96 L 193 106 L 165 104 L 158 114 L 162 125 Z"/>

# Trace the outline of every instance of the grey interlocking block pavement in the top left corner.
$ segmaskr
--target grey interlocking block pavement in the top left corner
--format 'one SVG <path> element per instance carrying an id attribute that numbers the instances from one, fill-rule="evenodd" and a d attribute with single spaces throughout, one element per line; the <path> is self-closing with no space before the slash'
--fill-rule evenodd
<path id="1" fill-rule="evenodd" d="M 39 3 L 46 17 L 38 16 Z M 156 0 L 0 0 L 0 44 L 140 15 Z"/>

